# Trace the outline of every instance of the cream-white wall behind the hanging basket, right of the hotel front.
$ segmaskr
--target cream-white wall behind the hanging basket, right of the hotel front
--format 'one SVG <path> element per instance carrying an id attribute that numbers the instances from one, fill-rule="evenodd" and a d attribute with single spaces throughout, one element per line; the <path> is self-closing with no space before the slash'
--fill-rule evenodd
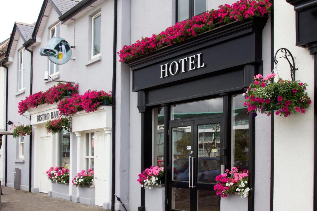
<path id="1" fill-rule="evenodd" d="M 290 50 L 298 68 L 296 79 L 308 84 L 307 93 L 314 102 L 314 59 L 307 49 L 295 46 L 294 6 L 275 1 L 274 16 L 274 51 Z M 282 77 L 290 79 L 286 60 L 280 59 L 278 64 Z M 305 114 L 275 116 L 274 210 L 313 210 L 313 108 L 312 103 Z"/>

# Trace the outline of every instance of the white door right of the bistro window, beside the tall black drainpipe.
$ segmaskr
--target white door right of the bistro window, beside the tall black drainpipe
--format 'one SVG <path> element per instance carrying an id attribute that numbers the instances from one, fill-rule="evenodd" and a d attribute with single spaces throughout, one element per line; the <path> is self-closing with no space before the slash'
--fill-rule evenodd
<path id="1" fill-rule="evenodd" d="M 94 135 L 94 182 L 95 204 L 103 207 L 104 202 L 109 202 L 109 164 L 110 154 L 107 149 L 106 134 L 96 132 Z"/>

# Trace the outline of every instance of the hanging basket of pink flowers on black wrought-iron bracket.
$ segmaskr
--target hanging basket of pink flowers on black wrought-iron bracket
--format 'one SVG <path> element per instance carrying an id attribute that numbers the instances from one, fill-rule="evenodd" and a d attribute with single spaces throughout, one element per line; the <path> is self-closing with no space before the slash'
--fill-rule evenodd
<path id="1" fill-rule="evenodd" d="M 248 108 L 248 113 L 253 113 L 253 116 L 257 115 L 256 112 L 270 115 L 271 110 L 276 110 L 276 115 L 285 117 L 291 113 L 304 114 L 312 103 L 306 92 L 307 84 L 281 78 L 272 82 L 275 76 L 271 73 L 264 78 L 261 74 L 254 77 L 254 82 L 243 93 L 243 105 Z"/>

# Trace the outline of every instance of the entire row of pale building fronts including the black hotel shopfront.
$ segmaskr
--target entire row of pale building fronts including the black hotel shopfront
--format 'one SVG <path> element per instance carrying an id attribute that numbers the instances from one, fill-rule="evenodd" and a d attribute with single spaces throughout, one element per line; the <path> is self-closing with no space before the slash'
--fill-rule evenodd
<path id="1" fill-rule="evenodd" d="M 119 61 L 124 45 L 234 2 L 44 0 L 35 24 L 16 22 L 0 61 L 9 73 L 4 121 L 33 129 L 30 136 L 7 137 L 5 185 L 13 187 L 14 169 L 20 168 L 21 189 L 111 210 L 315 210 L 317 20 L 310 16 L 317 10 L 315 0 L 274 1 L 262 18 L 219 25 Z M 54 37 L 72 46 L 66 64 L 55 65 L 38 53 Z M 275 68 L 280 48 L 293 54 L 296 80 L 307 83 L 312 103 L 305 114 L 287 118 L 248 115 L 242 93 L 253 76 Z M 291 80 L 288 62 L 281 58 L 278 67 L 283 79 Z M 53 81 L 43 79 L 45 71 Z M 57 81 L 78 84 L 80 95 L 113 91 L 113 102 L 72 115 L 70 133 L 46 133 L 44 125 L 57 118 L 59 102 L 30 108 L 23 116 L 17 105 Z M 161 185 L 141 188 L 138 174 L 157 165 L 165 169 Z M 51 183 L 46 174 L 51 166 L 67 167 L 70 181 L 93 169 L 94 183 L 84 188 Z M 246 198 L 220 198 L 214 191 L 215 177 L 233 166 L 249 170 L 252 190 Z"/>

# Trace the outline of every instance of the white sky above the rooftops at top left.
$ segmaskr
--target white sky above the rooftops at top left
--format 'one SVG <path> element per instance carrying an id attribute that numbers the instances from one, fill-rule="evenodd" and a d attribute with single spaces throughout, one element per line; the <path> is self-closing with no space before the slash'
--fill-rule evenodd
<path id="1" fill-rule="evenodd" d="M 36 22 L 43 0 L 0 0 L 0 42 L 10 37 L 15 21 Z"/>

